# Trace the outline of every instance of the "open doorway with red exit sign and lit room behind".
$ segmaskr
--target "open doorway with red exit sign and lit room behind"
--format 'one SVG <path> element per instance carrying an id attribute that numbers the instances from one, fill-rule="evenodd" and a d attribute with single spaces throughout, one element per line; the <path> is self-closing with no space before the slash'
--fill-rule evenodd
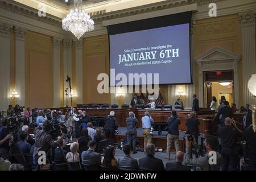
<path id="1" fill-rule="evenodd" d="M 221 96 L 225 96 L 226 101 L 234 103 L 234 81 L 233 71 L 213 71 L 204 72 L 204 105 L 210 108 L 212 97 L 217 98 L 217 107 L 220 105 Z"/>

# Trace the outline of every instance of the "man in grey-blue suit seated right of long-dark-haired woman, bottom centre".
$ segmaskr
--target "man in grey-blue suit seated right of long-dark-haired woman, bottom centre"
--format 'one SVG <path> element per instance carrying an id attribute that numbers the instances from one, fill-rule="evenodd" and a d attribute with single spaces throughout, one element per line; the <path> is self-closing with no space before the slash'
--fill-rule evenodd
<path id="1" fill-rule="evenodd" d="M 129 170 L 129 171 L 136 171 L 139 169 L 138 160 L 131 158 L 131 145 L 125 144 L 123 146 L 123 152 L 125 156 L 118 159 L 118 167 L 119 169 Z"/>

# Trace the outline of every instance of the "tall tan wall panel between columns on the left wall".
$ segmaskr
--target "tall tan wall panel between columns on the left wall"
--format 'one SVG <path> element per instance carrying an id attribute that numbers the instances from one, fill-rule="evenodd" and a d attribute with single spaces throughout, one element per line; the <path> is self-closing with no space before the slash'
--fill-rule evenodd
<path id="1" fill-rule="evenodd" d="M 25 105 L 52 106 L 52 38 L 28 31 L 25 51 Z"/>

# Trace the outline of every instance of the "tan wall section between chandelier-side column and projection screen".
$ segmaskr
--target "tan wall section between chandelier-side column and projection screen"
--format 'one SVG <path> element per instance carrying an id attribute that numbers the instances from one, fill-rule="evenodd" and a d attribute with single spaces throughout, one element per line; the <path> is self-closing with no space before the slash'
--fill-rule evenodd
<path id="1" fill-rule="evenodd" d="M 83 98 L 84 103 L 110 103 L 110 93 L 97 91 L 100 73 L 109 75 L 109 40 L 108 35 L 84 39 L 83 47 Z"/>

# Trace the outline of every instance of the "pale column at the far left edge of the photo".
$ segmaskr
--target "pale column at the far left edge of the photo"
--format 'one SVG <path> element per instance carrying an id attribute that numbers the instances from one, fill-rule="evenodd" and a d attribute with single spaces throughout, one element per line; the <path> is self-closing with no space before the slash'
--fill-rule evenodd
<path id="1" fill-rule="evenodd" d="M 0 110 L 10 104 L 10 24 L 0 22 Z"/>

